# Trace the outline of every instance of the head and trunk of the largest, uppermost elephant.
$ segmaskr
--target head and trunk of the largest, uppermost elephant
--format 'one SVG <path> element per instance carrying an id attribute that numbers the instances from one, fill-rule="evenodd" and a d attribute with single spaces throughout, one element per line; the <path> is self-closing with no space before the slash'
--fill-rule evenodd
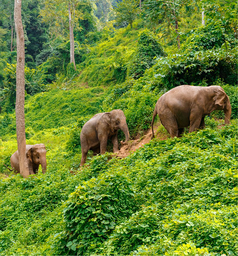
<path id="1" fill-rule="evenodd" d="M 231 103 L 224 90 L 220 86 L 217 87 L 219 88 L 217 88 L 214 96 L 215 109 L 224 111 L 225 124 L 229 124 L 229 120 L 231 118 Z"/>

